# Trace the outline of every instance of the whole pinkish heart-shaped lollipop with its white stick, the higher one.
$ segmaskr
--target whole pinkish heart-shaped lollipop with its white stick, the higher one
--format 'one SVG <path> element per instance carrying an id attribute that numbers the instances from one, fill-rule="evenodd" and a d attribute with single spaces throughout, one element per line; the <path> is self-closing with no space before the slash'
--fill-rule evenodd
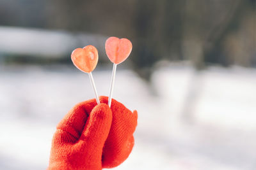
<path id="1" fill-rule="evenodd" d="M 116 66 L 129 57 L 132 51 L 132 43 L 126 38 L 109 37 L 105 43 L 105 50 L 109 60 L 113 62 L 113 72 L 111 78 L 111 85 L 109 90 L 108 106 L 111 107 L 112 94 L 114 89 L 114 81 L 116 75 Z"/>

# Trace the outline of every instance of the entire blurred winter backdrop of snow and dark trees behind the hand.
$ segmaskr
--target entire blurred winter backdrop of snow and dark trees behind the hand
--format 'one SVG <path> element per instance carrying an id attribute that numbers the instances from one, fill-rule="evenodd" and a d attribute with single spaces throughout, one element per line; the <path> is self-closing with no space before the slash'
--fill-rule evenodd
<path id="1" fill-rule="evenodd" d="M 256 169 L 255 0 L 0 0 L 0 169 L 45 169 L 56 124 L 94 97 L 74 48 L 97 47 L 108 96 L 109 36 L 132 41 L 113 97 L 139 114 L 115 169 Z"/>

